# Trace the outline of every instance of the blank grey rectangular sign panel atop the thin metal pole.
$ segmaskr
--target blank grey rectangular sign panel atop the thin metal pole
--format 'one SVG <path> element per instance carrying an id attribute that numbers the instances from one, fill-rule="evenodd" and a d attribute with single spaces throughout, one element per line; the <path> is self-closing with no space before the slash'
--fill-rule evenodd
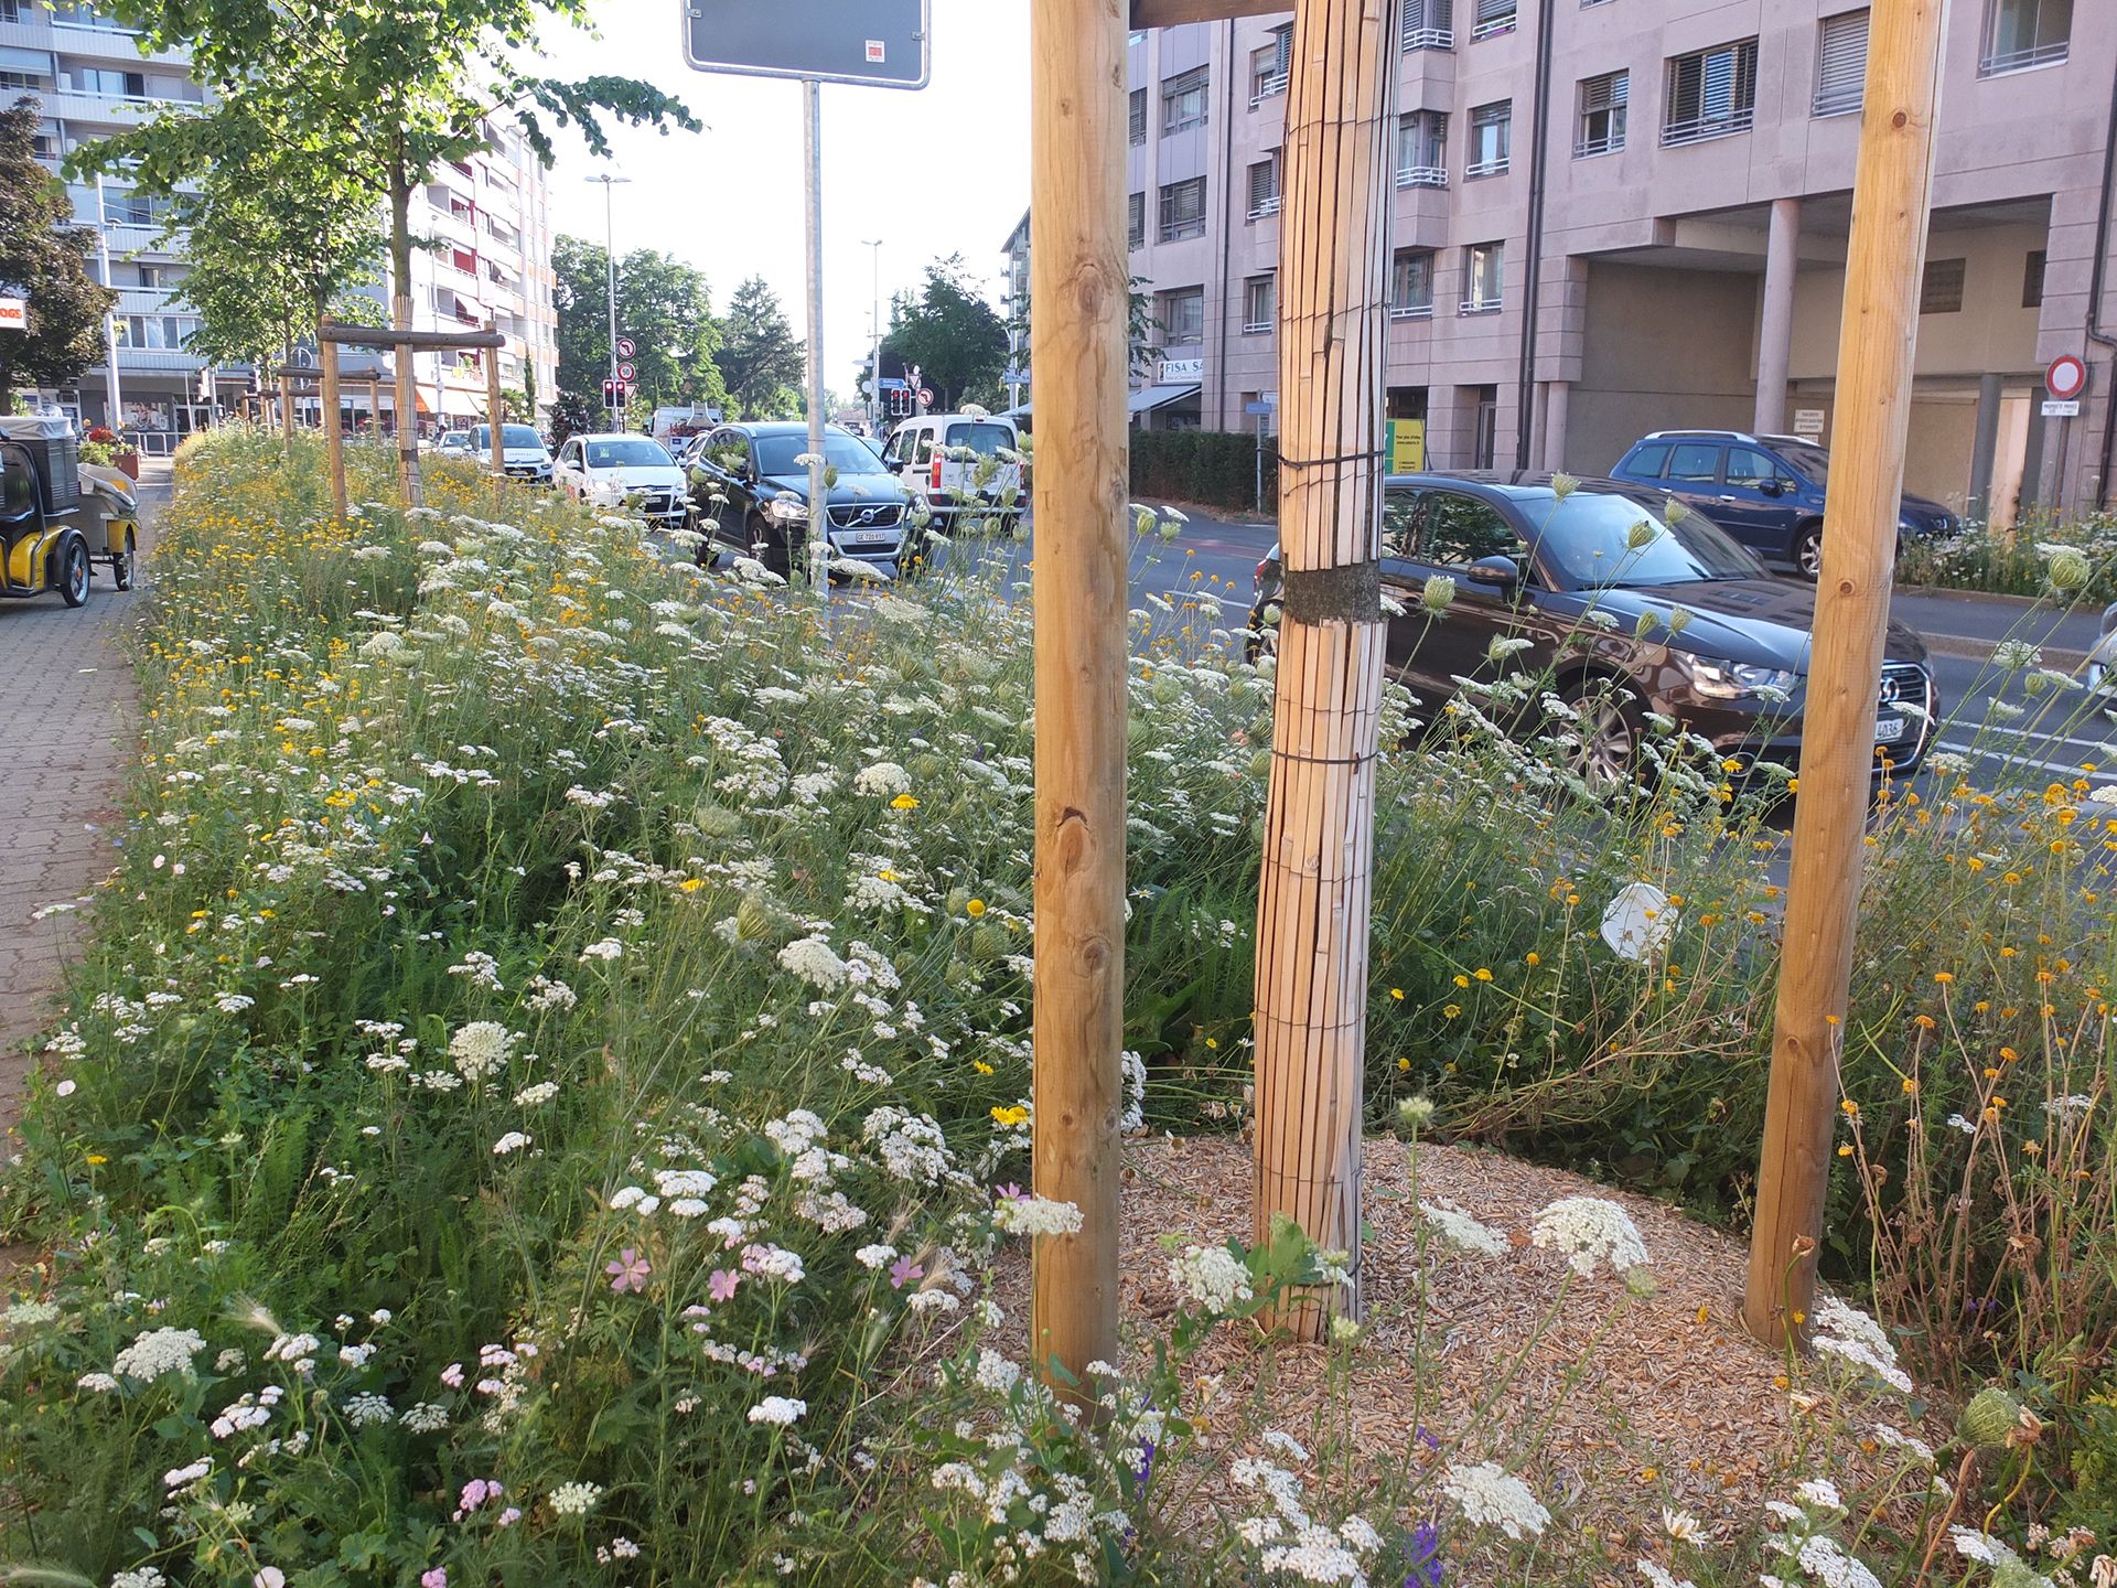
<path id="1" fill-rule="evenodd" d="M 682 0 L 694 72 L 923 89 L 931 0 Z"/>

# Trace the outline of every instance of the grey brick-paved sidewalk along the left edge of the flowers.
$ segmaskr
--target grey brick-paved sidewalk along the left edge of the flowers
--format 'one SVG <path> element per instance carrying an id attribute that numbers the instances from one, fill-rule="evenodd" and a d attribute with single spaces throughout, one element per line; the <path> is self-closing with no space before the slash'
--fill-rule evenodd
<path id="1" fill-rule="evenodd" d="M 150 459 L 140 491 L 142 553 L 169 495 L 169 464 Z M 148 567 L 142 584 L 152 582 Z M 142 589 L 119 593 L 110 570 L 80 610 L 57 595 L 0 601 L 0 1141 L 30 1073 L 30 1040 L 51 1018 L 78 915 L 32 921 L 44 904 L 87 896 L 108 872 L 119 786 L 135 747 L 135 692 L 125 642 Z M 4 1150 L 4 1148 L 0 1148 Z"/>

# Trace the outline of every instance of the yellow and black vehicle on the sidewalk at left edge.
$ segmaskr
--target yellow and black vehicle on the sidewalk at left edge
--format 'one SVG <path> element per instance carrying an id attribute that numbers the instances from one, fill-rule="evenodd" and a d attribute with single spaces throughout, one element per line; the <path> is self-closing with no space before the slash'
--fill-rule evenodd
<path id="1" fill-rule="evenodd" d="M 59 415 L 0 415 L 0 595 L 57 591 L 89 599 L 95 563 L 131 589 L 140 572 L 140 508 L 131 481 L 80 462 Z"/>

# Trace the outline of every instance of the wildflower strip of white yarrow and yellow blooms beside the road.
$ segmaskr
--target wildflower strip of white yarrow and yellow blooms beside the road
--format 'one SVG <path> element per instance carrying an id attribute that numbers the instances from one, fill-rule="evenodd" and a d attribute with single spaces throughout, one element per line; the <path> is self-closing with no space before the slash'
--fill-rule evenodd
<path id="1" fill-rule="evenodd" d="M 311 443 L 180 457 L 123 847 L 0 1175 L 40 1253 L 0 1296 L 0 1582 L 2117 1582 L 2106 769 L 1884 783 L 1842 1298 L 1740 1359 L 1785 1425 L 1702 1514 L 1609 1455 L 1653 1408 L 1581 1385 L 1675 1258 L 1609 1188 L 1742 1224 L 1783 781 L 1677 724 L 1584 781 L 1503 652 L 1454 705 L 1399 690 L 1368 1105 L 1418 1345 L 1382 1366 L 1461 1410 L 1357 1419 L 1346 1319 L 1304 1347 L 1336 1410 L 1279 1414 L 1264 1321 L 1344 1279 L 1287 1226 L 1171 1228 L 1175 1302 L 1058 1400 L 1001 1302 L 1078 1220 L 1029 1184 L 1010 546 L 826 618 L 625 512 L 468 466 L 402 510 L 354 468 L 341 529 Z M 1241 622 L 1135 614 L 1124 1118 L 1234 1152 L 1272 707 Z M 2022 718 L 2094 709 L 1994 667 Z M 1435 1141 L 1577 1177 L 1501 1217 L 1421 1192 Z M 1499 1285 L 1520 1330 L 1471 1345 Z"/>

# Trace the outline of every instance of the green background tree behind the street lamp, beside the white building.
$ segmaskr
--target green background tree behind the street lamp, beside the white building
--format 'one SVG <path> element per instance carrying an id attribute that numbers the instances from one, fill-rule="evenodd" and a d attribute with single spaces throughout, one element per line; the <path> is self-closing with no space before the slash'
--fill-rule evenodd
<path id="1" fill-rule="evenodd" d="M 601 407 L 610 375 L 610 256 L 601 243 L 559 237 L 553 301 L 559 309 L 559 392 Z M 639 371 L 633 409 L 728 400 L 720 366 L 720 324 L 705 275 L 673 254 L 635 248 L 618 260 L 618 335 L 633 339 Z"/>

